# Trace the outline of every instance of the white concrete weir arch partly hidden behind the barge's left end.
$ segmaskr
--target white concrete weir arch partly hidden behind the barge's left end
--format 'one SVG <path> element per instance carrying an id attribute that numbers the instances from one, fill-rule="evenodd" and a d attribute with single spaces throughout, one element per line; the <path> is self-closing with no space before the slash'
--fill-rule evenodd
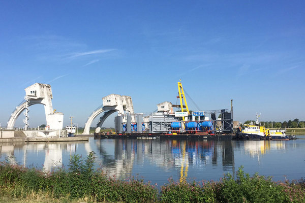
<path id="1" fill-rule="evenodd" d="M 96 132 L 100 132 L 101 127 L 108 116 L 111 114 L 118 112 L 118 114 L 134 114 L 134 108 L 132 104 L 132 99 L 130 96 L 118 95 L 118 94 L 109 94 L 102 98 L 103 104 L 98 107 L 92 114 L 88 117 L 83 134 L 89 134 L 90 126 L 93 120 L 101 113 L 104 114 L 100 117 L 100 120 L 96 126 Z M 127 118 L 124 117 L 124 120 Z M 134 116 L 131 117 L 131 121 L 134 122 Z"/>

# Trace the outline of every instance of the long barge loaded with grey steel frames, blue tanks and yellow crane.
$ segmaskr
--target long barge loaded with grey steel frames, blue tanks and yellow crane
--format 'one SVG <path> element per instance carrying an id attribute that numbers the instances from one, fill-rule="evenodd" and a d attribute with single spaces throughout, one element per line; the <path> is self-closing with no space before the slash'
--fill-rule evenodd
<path id="1" fill-rule="evenodd" d="M 178 82 L 179 105 L 164 101 L 153 113 L 118 113 L 115 116 L 115 132 L 95 132 L 97 138 L 218 138 L 233 133 L 233 106 L 211 111 L 190 111 L 184 89 Z M 107 100 L 109 102 L 109 99 Z M 174 111 L 174 108 L 178 108 Z M 125 109 L 128 109 L 125 107 Z"/>

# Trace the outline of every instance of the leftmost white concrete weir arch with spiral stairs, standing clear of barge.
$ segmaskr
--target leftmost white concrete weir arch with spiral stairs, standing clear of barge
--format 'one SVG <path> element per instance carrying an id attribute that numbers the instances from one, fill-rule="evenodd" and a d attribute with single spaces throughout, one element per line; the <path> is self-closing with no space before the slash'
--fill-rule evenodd
<path id="1" fill-rule="evenodd" d="M 35 83 L 27 88 L 25 88 L 24 100 L 11 114 L 8 121 L 7 129 L 13 129 L 17 118 L 22 112 L 24 112 L 25 123 L 24 133 L 26 137 L 59 137 L 64 133 L 63 120 L 64 114 L 60 112 L 53 111 L 52 107 L 52 89 L 51 85 Z M 46 116 L 46 126 L 47 130 L 28 130 L 28 119 L 29 119 L 29 107 L 32 105 L 41 104 L 44 105 L 45 116 Z"/>

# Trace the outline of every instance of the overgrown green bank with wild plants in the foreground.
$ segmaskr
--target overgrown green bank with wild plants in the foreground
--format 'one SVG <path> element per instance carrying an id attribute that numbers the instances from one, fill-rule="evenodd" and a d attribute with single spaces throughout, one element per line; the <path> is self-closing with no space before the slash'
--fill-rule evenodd
<path id="1" fill-rule="evenodd" d="M 74 155 L 67 170 L 43 172 L 0 164 L 0 202 L 305 202 L 305 181 L 273 182 L 242 167 L 236 179 L 174 182 L 161 187 L 138 178 L 116 180 L 94 170 L 94 153 Z"/>

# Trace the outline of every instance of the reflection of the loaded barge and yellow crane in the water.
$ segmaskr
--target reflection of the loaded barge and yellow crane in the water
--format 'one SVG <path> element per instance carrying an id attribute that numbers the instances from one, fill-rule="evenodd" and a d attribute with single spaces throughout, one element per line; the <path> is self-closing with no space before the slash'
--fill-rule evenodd
<path id="1" fill-rule="evenodd" d="M 189 167 L 200 170 L 209 163 L 217 167 L 218 154 L 222 155 L 224 169 L 234 170 L 233 145 L 229 141 L 199 140 L 97 140 L 99 163 L 109 175 L 126 178 L 137 165 L 154 165 L 164 171 L 177 170 L 179 180 L 188 177 Z M 217 144 L 216 144 L 217 143 Z M 114 155 L 106 145 L 113 145 Z M 220 151 L 218 153 L 218 151 Z"/>

